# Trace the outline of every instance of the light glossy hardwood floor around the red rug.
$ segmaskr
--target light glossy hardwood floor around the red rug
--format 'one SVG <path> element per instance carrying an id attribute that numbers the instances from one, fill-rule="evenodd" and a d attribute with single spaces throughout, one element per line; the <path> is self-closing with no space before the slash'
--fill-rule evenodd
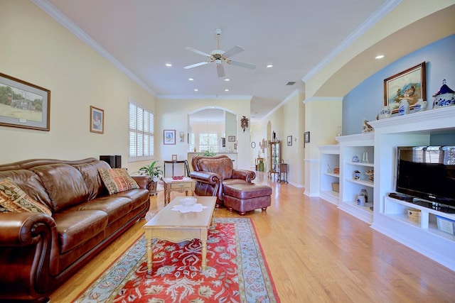
<path id="1" fill-rule="evenodd" d="M 374 231 L 304 189 L 272 182 L 272 206 L 247 213 L 281 302 L 455 302 L 455 272 Z M 178 193 L 172 192 L 171 198 Z M 164 206 L 151 197 L 150 214 Z M 227 209 L 215 217 L 235 216 Z M 71 302 L 144 232 L 141 220 L 50 296 Z M 455 258 L 455 256 L 454 256 Z"/>

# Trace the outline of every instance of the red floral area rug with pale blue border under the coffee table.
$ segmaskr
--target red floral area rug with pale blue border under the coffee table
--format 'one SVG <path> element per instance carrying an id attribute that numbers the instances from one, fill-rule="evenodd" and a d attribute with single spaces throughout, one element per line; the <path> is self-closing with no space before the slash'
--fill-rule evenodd
<path id="1" fill-rule="evenodd" d="M 200 270 L 200 241 L 155 241 L 151 275 L 141 236 L 75 302 L 279 302 L 248 218 L 216 218 Z"/>

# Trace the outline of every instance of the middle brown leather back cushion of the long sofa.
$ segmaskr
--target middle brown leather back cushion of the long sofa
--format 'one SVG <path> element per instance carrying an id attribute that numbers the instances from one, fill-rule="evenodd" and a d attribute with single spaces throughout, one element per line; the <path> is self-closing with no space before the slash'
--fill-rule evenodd
<path id="1" fill-rule="evenodd" d="M 43 182 L 54 213 L 87 201 L 87 186 L 79 170 L 73 166 L 56 163 L 32 167 L 30 170 Z"/>

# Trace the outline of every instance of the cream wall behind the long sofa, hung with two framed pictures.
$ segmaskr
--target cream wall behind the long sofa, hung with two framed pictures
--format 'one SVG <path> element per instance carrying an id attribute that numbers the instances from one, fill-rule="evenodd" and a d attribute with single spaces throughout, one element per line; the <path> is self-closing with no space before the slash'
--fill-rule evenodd
<path id="1" fill-rule="evenodd" d="M 155 98 L 31 1 L 1 1 L 0 37 L 0 71 L 50 89 L 50 131 L 0 126 L 0 162 L 122 155 L 129 167 L 128 98 L 151 111 Z M 90 133 L 90 105 L 104 134 Z"/>

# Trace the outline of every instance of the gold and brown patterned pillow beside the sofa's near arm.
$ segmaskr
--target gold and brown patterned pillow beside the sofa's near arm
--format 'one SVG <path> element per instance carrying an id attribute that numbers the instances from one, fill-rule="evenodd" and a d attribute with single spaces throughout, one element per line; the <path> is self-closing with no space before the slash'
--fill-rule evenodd
<path id="1" fill-rule="evenodd" d="M 37 202 L 24 192 L 18 185 L 6 178 L 0 181 L 0 212 L 41 212 L 52 215 L 47 206 Z"/>

